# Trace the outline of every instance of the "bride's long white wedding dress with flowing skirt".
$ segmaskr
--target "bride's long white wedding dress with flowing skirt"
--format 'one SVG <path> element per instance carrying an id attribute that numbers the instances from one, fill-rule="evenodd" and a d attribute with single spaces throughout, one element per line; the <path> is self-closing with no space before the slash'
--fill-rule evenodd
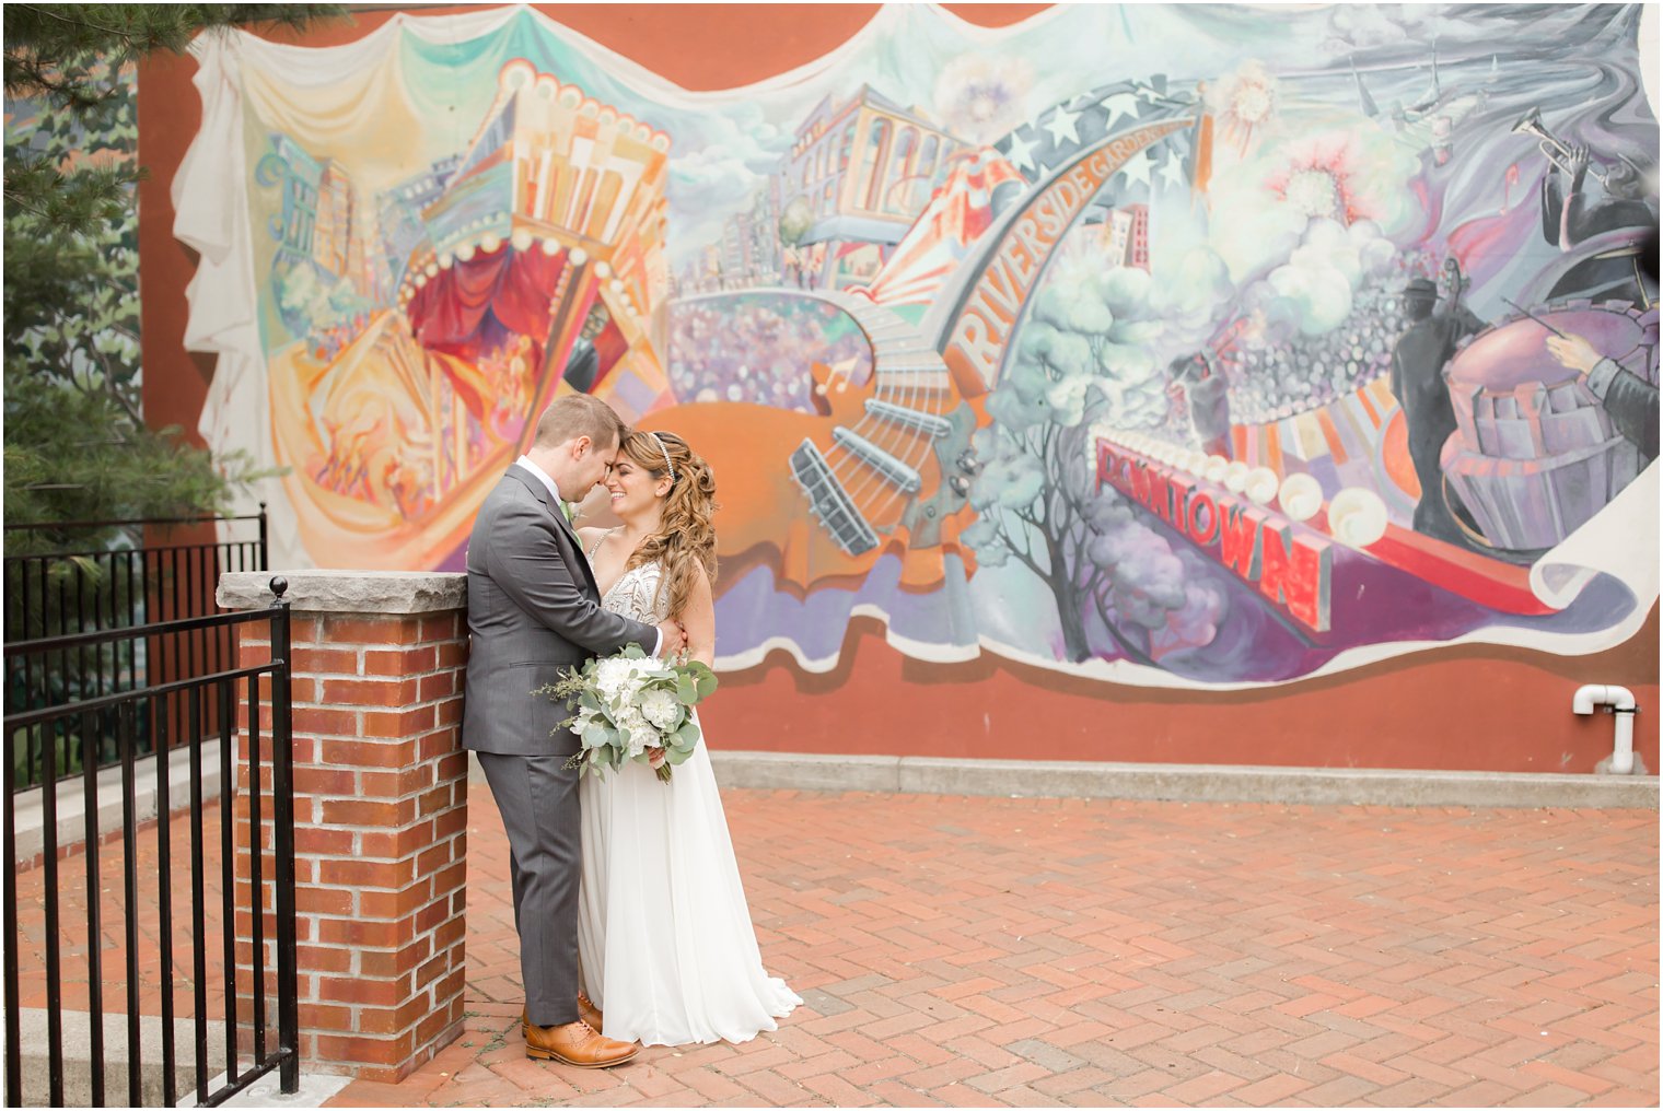
<path id="1" fill-rule="evenodd" d="M 600 604 L 639 622 L 660 567 L 632 567 Z M 700 743 L 669 783 L 644 763 L 585 773 L 584 880 L 577 900 L 582 983 L 607 1038 L 679 1046 L 750 1041 L 802 1000 L 762 968 L 722 795 Z"/>

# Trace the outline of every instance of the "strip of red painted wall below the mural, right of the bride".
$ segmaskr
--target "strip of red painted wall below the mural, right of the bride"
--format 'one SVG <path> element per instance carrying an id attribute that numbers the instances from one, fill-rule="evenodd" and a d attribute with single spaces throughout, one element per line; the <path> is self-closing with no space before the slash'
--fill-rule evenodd
<path id="1" fill-rule="evenodd" d="M 1244 692 L 1123 687 L 983 657 L 920 664 L 856 620 L 843 665 L 803 675 L 780 652 L 723 675 L 702 709 L 718 748 L 863 755 L 1591 772 L 1611 718 L 1577 717 L 1582 684 L 1635 692 L 1635 750 L 1658 770 L 1658 610 L 1610 652 L 1448 647 Z"/>

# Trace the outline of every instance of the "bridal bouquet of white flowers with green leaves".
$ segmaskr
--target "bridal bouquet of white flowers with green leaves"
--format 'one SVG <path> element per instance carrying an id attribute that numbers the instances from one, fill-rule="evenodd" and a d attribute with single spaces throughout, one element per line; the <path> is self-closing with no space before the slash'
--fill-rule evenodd
<path id="1" fill-rule="evenodd" d="M 650 763 L 649 748 L 664 748 L 659 778 L 693 753 L 698 722 L 693 707 L 717 689 L 717 677 L 698 660 L 657 660 L 637 645 L 594 659 L 532 694 L 572 702 L 577 712 L 560 728 L 577 733 L 582 748 L 567 768 L 604 773 L 625 760 Z"/>

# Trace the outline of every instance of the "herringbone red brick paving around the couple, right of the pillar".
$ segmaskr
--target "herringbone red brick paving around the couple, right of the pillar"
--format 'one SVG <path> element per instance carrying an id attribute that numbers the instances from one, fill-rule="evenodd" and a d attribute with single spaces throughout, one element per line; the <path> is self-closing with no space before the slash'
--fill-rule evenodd
<path id="1" fill-rule="evenodd" d="M 1651 812 L 725 800 L 778 1033 L 527 1061 L 476 788 L 467 1033 L 333 1104 L 1658 1103 Z"/>

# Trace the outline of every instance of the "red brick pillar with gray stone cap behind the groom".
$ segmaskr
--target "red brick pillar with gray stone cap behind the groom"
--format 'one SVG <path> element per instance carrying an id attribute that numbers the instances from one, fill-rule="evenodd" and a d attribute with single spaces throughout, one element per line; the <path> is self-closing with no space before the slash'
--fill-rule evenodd
<path id="1" fill-rule="evenodd" d="M 269 572 L 220 579 L 220 605 L 271 604 Z M 459 574 L 284 572 L 294 705 L 294 906 L 301 1066 L 397 1081 L 462 1031 L 467 753 L 461 747 L 467 580 Z M 259 637 L 259 639 L 253 639 Z M 271 659 L 261 627 L 243 667 Z M 261 690 L 269 753 L 269 684 Z M 238 906 L 253 905 L 248 707 L 239 710 Z M 263 788 L 269 793 L 269 755 Z M 263 843 L 271 845 L 269 802 Z M 266 968 L 276 968 L 271 857 Z M 253 983 L 253 916 L 238 913 Z M 244 1011 L 248 1008 L 244 1006 Z M 268 1025 L 276 1025 L 268 1003 Z"/>

